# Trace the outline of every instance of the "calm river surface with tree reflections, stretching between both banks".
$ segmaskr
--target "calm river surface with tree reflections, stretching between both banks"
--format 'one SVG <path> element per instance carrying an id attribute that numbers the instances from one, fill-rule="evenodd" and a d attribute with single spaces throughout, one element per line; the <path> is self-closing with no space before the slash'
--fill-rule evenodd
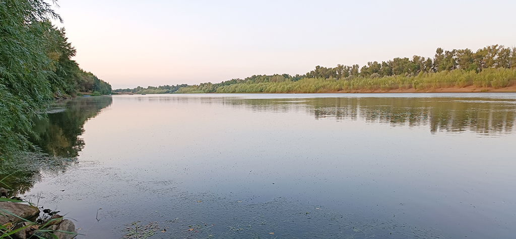
<path id="1" fill-rule="evenodd" d="M 20 192 L 79 238 L 135 221 L 152 238 L 516 234 L 516 94 L 124 95 L 54 112 L 39 144 L 68 160 Z"/>

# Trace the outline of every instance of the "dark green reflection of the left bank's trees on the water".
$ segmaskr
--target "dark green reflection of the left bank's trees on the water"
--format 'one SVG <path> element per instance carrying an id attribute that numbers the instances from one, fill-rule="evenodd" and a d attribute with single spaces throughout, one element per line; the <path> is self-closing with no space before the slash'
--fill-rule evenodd
<path id="1" fill-rule="evenodd" d="M 43 153 L 19 155 L 12 161 L 0 161 L 0 186 L 11 189 L 10 195 L 23 194 L 41 178 L 41 170 L 64 172 L 76 161 L 84 140 L 84 123 L 109 106 L 111 97 L 80 97 L 56 103 L 47 117 L 37 119 L 39 139 L 31 139 Z M 55 112 L 55 113 L 53 113 Z"/>

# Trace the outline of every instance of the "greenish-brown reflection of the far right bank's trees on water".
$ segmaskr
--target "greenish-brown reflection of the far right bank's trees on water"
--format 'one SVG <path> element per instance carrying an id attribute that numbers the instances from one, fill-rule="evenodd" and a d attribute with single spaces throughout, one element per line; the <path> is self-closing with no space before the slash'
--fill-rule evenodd
<path id="1" fill-rule="evenodd" d="M 428 125 L 430 132 L 508 133 L 516 121 L 516 100 L 503 98 L 228 98 L 223 104 L 247 105 L 254 111 L 269 112 L 305 108 L 315 118 L 360 119 L 392 126 Z"/>

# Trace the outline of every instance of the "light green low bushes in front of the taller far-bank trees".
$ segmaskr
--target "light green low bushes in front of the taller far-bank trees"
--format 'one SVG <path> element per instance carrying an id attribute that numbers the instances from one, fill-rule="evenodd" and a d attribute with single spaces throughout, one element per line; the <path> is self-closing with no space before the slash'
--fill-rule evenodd
<path id="1" fill-rule="evenodd" d="M 410 89 L 432 90 L 449 87 L 507 87 L 516 81 L 516 69 L 487 69 L 480 73 L 474 71 L 453 70 L 441 72 L 420 72 L 417 76 L 385 76 L 385 77 L 347 77 L 341 79 L 302 78 L 298 81 L 239 83 L 219 86 L 211 92 L 215 93 L 325 93 L 356 90 L 396 90 Z M 218 84 L 211 84 L 218 86 Z M 205 93 L 206 84 L 183 87 L 178 93 Z"/>

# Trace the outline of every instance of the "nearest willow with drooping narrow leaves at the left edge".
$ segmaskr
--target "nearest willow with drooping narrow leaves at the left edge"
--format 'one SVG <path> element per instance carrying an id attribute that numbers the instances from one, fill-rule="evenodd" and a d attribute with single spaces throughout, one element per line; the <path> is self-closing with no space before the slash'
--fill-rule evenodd
<path id="1" fill-rule="evenodd" d="M 49 79 L 53 60 L 47 56 L 52 28 L 49 18 L 61 21 L 42 0 L 0 1 L 0 157 L 33 148 L 33 118 L 52 98 Z"/>

